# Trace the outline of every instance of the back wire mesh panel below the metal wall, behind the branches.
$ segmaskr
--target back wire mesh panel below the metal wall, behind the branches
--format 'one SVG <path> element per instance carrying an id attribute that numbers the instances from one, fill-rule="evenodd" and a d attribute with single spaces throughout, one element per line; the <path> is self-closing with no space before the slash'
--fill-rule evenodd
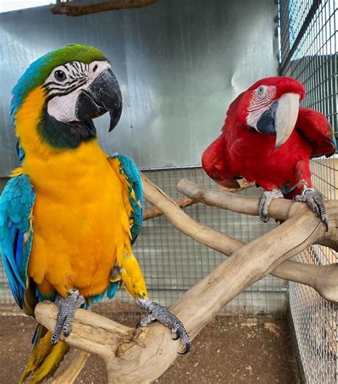
<path id="1" fill-rule="evenodd" d="M 217 188 L 216 184 L 200 167 L 158 168 L 143 170 L 145 175 L 172 198 L 180 198 L 176 185 L 180 178 L 189 178 L 202 186 Z M 250 188 L 242 191 L 248 196 L 260 196 L 262 191 Z M 145 209 L 150 208 L 145 203 Z M 222 211 L 219 208 L 195 204 L 185 208 L 185 212 L 207 226 L 227 233 L 241 241 L 252 241 L 275 227 L 275 222 L 264 224 L 257 217 Z M 153 300 L 170 305 L 185 290 L 194 286 L 218 266 L 224 256 L 200 245 L 180 233 L 163 217 L 145 221 L 133 247 L 143 270 L 149 295 Z M 12 303 L 6 276 L 0 268 L 0 303 Z M 232 315 L 283 315 L 287 308 L 287 283 L 267 276 L 248 288 L 225 308 Z M 135 305 L 124 289 L 118 290 L 116 299 L 110 303 L 103 300 L 97 310 L 113 315 L 119 310 L 129 316 L 135 314 Z"/>

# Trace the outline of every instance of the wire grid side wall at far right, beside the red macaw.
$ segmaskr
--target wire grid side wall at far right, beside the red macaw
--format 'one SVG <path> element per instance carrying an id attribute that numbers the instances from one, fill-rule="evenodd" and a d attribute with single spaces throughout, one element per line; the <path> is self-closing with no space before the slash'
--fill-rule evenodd
<path id="1" fill-rule="evenodd" d="M 302 106 L 324 113 L 337 137 L 338 2 L 280 0 L 280 74 L 299 80 L 307 91 Z M 314 188 L 337 198 L 338 158 L 311 163 Z M 337 263 L 337 253 L 311 246 L 296 261 Z M 337 383 L 337 307 L 307 286 L 290 282 L 290 311 L 294 343 L 306 383 Z M 315 369 L 314 369 L 315 367 Z"/>

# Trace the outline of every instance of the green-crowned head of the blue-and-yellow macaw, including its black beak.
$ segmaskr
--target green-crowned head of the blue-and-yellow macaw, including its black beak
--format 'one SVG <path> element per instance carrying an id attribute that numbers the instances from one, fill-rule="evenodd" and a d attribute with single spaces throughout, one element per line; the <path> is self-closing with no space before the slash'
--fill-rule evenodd
<path id="1" fill-rule="evenodd" d="M 96 137 L 92 119 L 106 112 L 111 116 L 111 131 L 122 111 L 121 90 L 111 64 L 98 49 L 80 44 L 34 61 L 12 94 L 11 115 L 19 138 L 19 121 L 38 113 L 40 137 L 56 148 L 75 148 Z"/>

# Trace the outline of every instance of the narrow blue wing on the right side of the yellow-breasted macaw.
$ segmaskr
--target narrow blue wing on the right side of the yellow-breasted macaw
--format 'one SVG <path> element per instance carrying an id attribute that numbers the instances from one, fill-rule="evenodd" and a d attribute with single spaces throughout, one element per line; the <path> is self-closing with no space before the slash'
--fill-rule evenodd
<path id="1" fill-rule="evenodd" d="M 138 171 L 135 163 L 127 156 L 113 155 L 111 158 L 118 158 L 120 161 L 119 171 L 126 176 L 128 182 L 130 183 L 130 187 L 128 187 L 128 197 L 131 206 L 133 207 L 131 215 L 133 225 L 130 228 L 131 244 L 133 245 L 138 237 L 138 233 L 140 233 L 143 219 L 143 188 L 140 171 Z"/>

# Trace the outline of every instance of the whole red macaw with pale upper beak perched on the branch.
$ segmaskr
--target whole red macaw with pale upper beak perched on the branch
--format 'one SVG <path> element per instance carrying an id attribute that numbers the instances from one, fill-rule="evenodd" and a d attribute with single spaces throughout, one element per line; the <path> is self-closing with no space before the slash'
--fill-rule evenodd
<path id="1" fill-rule="evenodd" d="M 202 165 L 217 183 L 238 188 L 245 177 L 262 186 L 258 211 L 267 222 L 272 198 L 307 201 L 328 228 L 322 196 L 312 189 L 309 159 L 336 148 L 327 118 L 299 108 L 304 87 L 287 77 L 257 81 L 232 101 L 220 136 L 205 149 Z"/>

